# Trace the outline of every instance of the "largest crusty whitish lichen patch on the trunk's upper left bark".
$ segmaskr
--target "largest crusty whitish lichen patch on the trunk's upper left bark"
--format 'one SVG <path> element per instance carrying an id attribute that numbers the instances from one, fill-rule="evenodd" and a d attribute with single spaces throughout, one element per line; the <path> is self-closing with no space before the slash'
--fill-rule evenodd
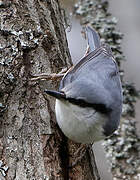
<path id="1" fill-rule="evenodd" d="M 10 43 L 0 44 L 1 65 L 10 65 L 16 58 L 22 57 L 24 49 L 34 49 L 39 44 L 39 38 L 34 36 L 34 32 L 29 30 L 0 30 L 1 33 L 7 32 L 6 38 Z M 3 41 L 1 41 L 3 42 Z"/>

